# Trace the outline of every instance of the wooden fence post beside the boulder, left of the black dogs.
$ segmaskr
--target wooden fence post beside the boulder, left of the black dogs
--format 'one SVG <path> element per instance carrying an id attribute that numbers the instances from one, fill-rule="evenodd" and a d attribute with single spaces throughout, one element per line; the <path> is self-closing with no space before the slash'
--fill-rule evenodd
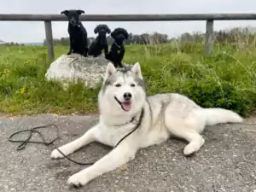
<path id="1" fill-rule="evenodd" d="M 51 21 L 45 20 L 44 27 L 45 27 L 46 44 L 48 49 L 48 58 L 49 58 L 49 61 L 53 61 L 55 58 L 55 51 L 54 51 L 54 45 L 53 45 Z"/>

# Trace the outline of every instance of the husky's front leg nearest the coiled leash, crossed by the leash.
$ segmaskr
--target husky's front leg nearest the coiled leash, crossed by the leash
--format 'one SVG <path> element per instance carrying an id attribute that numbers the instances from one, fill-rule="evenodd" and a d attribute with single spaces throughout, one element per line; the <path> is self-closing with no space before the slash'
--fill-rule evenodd
<path id="1" fill-rule="evenodd" d="M 59 149 L 65 155 L 73 154 L 73 152 L 78 150 L 79 148 L 82 148 L 85 145 L 88 145 L 89 143 L 96 141 L 95 136 L 96 136 L 96 131 L 98 129 L 98 126 L 99 125 L 96 125 L 95 127 L 90 128 L 90 130 L 86 131 L 82 137 L 79 137 L 73 142 L 67 143 L 66 145 L 61 146 Z M 50 154 L 51 159 L 59 159 L 63 157 L 64 156 L 57 149 L 54 149 Z"/>

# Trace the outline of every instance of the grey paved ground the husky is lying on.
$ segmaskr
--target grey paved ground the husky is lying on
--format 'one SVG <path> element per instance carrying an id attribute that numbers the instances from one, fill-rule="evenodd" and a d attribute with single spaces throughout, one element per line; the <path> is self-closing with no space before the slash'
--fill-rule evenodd
<path id="1" fill-rule="evenodd" d="M 96 123 L 97 117 L 40 115 L 29 118 L 0 118 L 0 191 L 4 192 L 255 192 L 256 125 L 218 125 L 208 127 L 206 143 L 192 157 L 183 156 L 185 143 L 169 140 L 145 148 L 126 170 L 98 177 L 82 189 L 67 186 L 67 178 L 84 166 L 68 160 L 50 160 L 52 146 L 28 144 L 16 151 L 18 143 L 7 138 L 15 131 L 55 123 L 61 127 L 61 140 L 67 143 Z M 256 120 L 254 119 L 256 122 Z M 45 131 L 45 137 L 55 137 Z M 110 148 L 93 143 L 71 157 L 94 161 Z"/>

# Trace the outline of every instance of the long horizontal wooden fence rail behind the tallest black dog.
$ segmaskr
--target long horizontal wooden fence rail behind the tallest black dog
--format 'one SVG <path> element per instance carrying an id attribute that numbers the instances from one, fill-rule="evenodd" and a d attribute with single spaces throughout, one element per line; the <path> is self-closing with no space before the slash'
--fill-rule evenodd
<path id="1" fill-rule="evenodd" d="M 0 20 L 66 21 L 65 15 L 0 15 Z M 82 21 L 256 20 L 256 14 L 80 15 Z"/>

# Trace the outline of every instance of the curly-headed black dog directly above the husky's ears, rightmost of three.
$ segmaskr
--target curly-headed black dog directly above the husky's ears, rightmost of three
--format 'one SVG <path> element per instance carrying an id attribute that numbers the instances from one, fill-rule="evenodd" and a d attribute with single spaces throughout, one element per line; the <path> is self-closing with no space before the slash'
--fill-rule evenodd
<path id="1" fill-rule="evenodd" d="M 124 28 L 116 28 L 111 32 L 111 37 L 114 39 L 111 49 L 106 59 L 113 62 L 115 67 L 123 67 L 122 60 L 125 55 L 125 39 L 128 39 L 128 32 Z"/>

